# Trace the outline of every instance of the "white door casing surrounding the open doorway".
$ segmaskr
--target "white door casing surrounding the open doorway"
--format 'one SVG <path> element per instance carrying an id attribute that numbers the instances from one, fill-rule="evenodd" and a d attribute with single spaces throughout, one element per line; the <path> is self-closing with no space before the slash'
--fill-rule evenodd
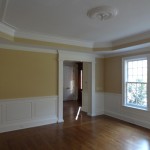
<path id="1" fill-rule="evenodd" d="M 63 62 L 81 61 L 91 63 L 90 106 L 88 115 L 94 116 L 95 110 L 95 56 L 81 52 L 58 51 L 58 122 L 63 122 Z"/>

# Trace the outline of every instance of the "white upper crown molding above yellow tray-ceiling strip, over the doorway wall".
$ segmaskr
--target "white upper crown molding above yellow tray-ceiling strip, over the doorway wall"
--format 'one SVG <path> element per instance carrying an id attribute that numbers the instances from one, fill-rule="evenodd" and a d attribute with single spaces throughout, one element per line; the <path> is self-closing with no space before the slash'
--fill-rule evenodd
<path id="1" fill-rule="evenodd" d="M 0 32 L 8 34 L 9 36 L 12 36 L 13 38 L 17 38 L 17 39 L 19 38 L 31 39 L 31 40 L 36 40 L 36 41 L 60 43 L 60 44 L 74 45 L 74 46 L 79 46 L 79 47 L 93 48 L 93 42 L 79 41 L 76 39 L 67 39 L 63 37 L 56 37 L 56 36 L 20 31 L 4 21 L 0 22 Z"/>

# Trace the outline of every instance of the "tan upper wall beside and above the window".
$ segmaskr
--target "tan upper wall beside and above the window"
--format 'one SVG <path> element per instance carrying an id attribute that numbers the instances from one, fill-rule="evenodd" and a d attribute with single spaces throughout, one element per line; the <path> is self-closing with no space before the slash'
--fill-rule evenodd
<path id="1" fill-rule="evenodd" d="M 139 52 L 104 59 L 104 91 L 112 93 L 122 93 L 122 58 L 148 52 Z"/>

